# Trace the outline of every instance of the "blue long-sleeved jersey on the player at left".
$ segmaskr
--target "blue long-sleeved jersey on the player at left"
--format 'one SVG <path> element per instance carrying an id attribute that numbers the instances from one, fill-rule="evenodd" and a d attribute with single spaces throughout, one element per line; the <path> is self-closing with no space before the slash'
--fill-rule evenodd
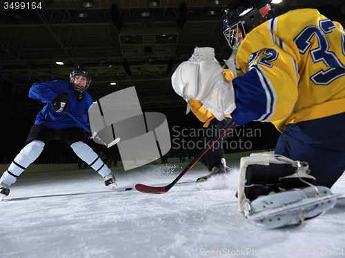
<path id="1" fill-rule="evenodd" d="M 90 125 L 88 122 L 88 111 L 92 107 L 92 98 L 87 92 L 78 101 L 75 92 L 69 82 L 64 80 L 53 80 L 46 83 L 34 83 L 30 88 L 29 98 L 47 103 L 36 116 L 35 125 L 43 125 L 48 128 L 70 128 L 80 127 L 70 116 L 61 112 L 57 113 L 52 109 L 52 102 L 59 94 L 68 94 L 68 105 L 66 110 L 77 118 L 83 125 Z"/>

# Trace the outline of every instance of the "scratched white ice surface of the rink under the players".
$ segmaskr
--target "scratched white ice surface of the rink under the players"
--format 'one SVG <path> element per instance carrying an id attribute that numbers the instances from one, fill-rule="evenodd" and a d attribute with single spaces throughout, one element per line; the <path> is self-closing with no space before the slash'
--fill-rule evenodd
<path id="1" fill-rule="evenodd" d="M 108 190 L 91 169 L 23 173 L 0 202 L 0 257 L 345 256 L 344 198 L 302 226 L 260 230 L 239 214 L 239 160 L 229 164 L 226 189 L 196 189 L 191 181 L 208 173 L 197 164 L 161 195 L 134 186 L 166 186 L 187 163 L 112 168 L 120 188 L 134 189 L 122 192 Z M 332 190 L 344 186 L 345 175 Z"/>

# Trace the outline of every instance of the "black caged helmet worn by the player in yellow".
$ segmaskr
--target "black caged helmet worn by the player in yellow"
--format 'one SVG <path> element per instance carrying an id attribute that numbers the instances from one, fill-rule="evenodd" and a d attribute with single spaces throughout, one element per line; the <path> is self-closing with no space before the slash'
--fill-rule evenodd
<path id="1" fill-rule="evenodd" d="M 272 0 L 234 0 L 223 13 L 223 33 L 231 48 L 237 49 L 246 34 L 273 13 Z"/>

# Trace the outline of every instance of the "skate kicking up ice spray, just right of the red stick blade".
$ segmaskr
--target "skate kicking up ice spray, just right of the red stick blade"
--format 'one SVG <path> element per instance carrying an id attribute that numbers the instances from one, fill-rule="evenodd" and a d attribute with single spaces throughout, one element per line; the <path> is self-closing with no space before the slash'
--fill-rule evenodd
<path id="1" fill-rule="evenodd" d="M 197 189 L 211 189 L 210 187 L 207 187 L 207 181 L 210 182 L 210 178 L 217 178 L 217 189 L 224 189 L 228 187 L 228 184 L 226 183 L 226 177 L 230 173 L 231 169 L 226 166 L 226 160 L 224 158 L 221 159 L 221 164 L 215 166 L 211 171 L 209 175 L 205 175 L 204 177 L 197 179 Z"/>

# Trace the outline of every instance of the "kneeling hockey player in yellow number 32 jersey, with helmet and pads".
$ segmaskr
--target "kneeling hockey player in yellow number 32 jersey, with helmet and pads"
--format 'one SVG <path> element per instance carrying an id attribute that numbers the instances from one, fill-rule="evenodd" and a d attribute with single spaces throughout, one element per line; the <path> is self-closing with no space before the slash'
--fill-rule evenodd
<path id="1" fill-rule="evenodd" d="M 328 188 L 345 171 L 344 29 L 318 10 L 269 19 L 272 10 L 270 0 L 234 0 L 224 11 L 224 35 L 237 52 L 237 77 L 230 82 L 206 49 L 199 50 L 199 63 L 181 63 L 172 75 L 177 94 L 201 101 L 218 120 L 230 114 L 238 126 L 273 122 L 282 132 L 275 155 L 241 160 L 239 208 L 263 228 L 298 224 L 334 206 Z M 271 208 L 272 193 L 276 216 L 264 211 L 266 217 L 255 220 L 257 207 Z M 295 208 L 288 215 L 286 200 Z M 324 200 L 330 205 L 323 209 Z"/>

